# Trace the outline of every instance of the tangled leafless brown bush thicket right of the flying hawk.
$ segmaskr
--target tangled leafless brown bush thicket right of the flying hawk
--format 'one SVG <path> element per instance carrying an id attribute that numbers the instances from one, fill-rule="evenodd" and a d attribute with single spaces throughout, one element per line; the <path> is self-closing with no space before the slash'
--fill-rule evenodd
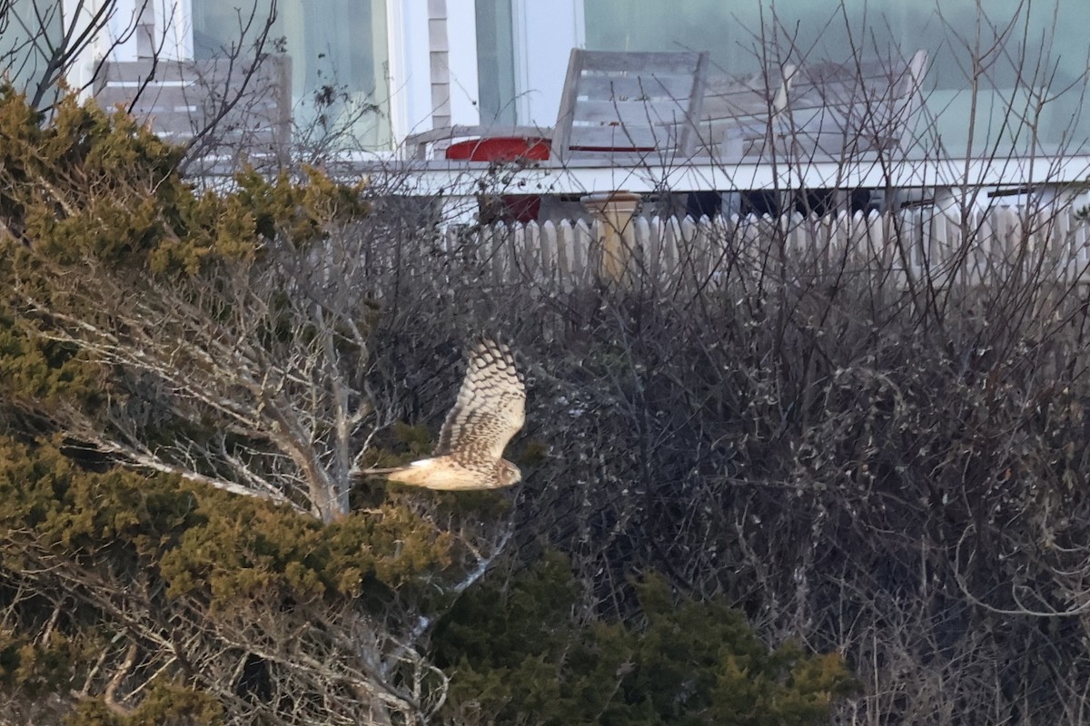
<path id="1" fill-rule="evenodd" d="M 841 138 L 827 187 L 876 167 L 867 179 L 888 202 L 855 221 L 858 244 L 815 217 L 723 223 L 682 244 L 673 276 L 637 261 L 621 290 L 519 264 L 497 281 L 484 233 L 389 268 L 434 294 L 384 282 L 398 292 L 379 296 L 379 340 L 412 345 L 408 321 L 498 324 L 530 361 L 522 445 L 548 454 L 518 493 L 517 544 L 570 552 L 586 607 L 626 612 L 643 568 L 728 593 L 770 640 L 849 656 L 865 688 L 844 723 L 1086 721 L 1087 258 L 1062 169 L 1085 138 L 1077 113 L 1058 136 L 1044 126 L 1050 103 L 1081 104 L 1087 78 L 1056 76 L 1028 12 L 972 28 L 940 16 L 979 111 L 964 149 L 942 137 L 930 79 L 903 146 L 850 143 L 884 135 L 868 113 Z M 784 52 L 765 67 L 819 60 L 775 34 L 760 47 Z M 859 69 L 911 53 L 857 39 Z M 806 128 L 782 147 L 775 131 L 766 159 L 804 179 Z M 906 159 L 930 176 L 906 184 Z M 986 213 L 1007 198 L 981 179 L 1024 193 L 1014 224 Z M 686 259 L 706 274 L 679 284 Z"/>

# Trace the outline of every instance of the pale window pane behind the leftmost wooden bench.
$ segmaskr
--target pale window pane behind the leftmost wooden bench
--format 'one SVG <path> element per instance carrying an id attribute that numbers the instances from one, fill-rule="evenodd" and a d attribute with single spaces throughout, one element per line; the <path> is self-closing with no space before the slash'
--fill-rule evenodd
<path id="1" fill-rule="evenodd" d="M 197 58 L 251 45 L 270 0 L 193 0 Z M 323 149 L 390 148 L 384 0 L 279 0 L 272 38 L 291 58 L 295 141 Z"/>

